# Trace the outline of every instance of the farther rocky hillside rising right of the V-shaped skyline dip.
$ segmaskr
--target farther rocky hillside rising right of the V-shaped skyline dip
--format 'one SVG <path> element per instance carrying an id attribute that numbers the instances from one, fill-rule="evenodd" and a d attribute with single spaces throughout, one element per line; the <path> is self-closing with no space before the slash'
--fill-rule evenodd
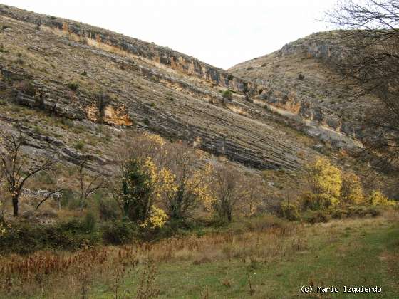
<path id="1" fill-rule="evenodd" d="M 345 49 L 336 40 L 337 31 L 315 33 L 286 44 L 279 51 L 239 63 L 229 71 L 246 80 L 264 85 L 266 100 L 277 112 L 302 122 L 324 127 L 309 130 L 311 135 L 328 139 L 329 133 L 362 140 L 373 135 L 360 117 L 377 107 L 373 96 L 348 96 L 350 87 L 337 71 L 345 59 Z"/>

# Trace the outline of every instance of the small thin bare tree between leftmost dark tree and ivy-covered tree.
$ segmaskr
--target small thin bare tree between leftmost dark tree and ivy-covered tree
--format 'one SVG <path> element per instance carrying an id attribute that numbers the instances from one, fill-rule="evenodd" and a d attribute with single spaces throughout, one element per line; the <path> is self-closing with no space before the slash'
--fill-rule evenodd
<path id="1" fill-rule="evenodd" d="M 107 181 L 102 172 L 95 174 L 93 177 L 88 177 L 85 174 L 85 169 L 87 167 L 88 159 L 83 159 L 79 163 L 79 203 L 81 205 L 81 210 L 88 198 L 99 189 L 107 188 Z"/>

